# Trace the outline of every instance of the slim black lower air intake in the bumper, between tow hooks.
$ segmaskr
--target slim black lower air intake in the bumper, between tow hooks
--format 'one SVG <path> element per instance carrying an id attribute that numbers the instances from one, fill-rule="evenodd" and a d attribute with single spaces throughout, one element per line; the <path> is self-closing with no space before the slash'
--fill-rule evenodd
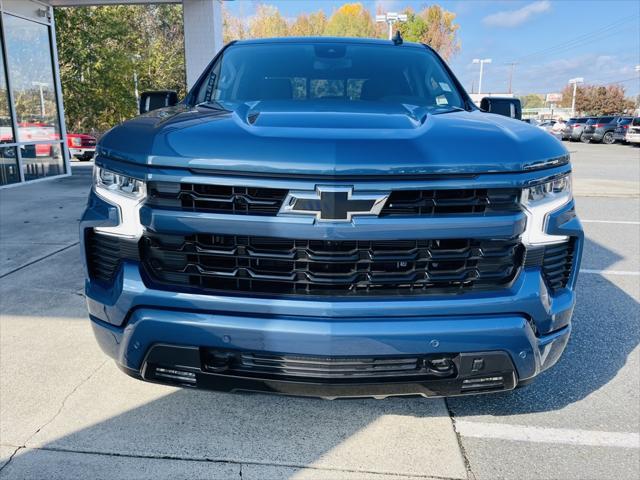
<path id="1" fill-rule="evenodd" d="M 442 355 L 318 357 L 203 349 L 202 362 L 205 371 L 217 374 L 312 382 L 406 381 L 457 374 L 454 360 Z"/>

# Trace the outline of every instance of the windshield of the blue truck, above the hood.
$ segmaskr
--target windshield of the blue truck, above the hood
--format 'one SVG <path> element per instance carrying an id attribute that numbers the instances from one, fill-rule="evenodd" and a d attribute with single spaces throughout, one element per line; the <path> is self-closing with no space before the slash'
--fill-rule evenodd
<path id="1" fill-rule="evenodd" d="M 224 52 L 196 95 L 196 103 L 263 100 L 464 107 L 435 55 L 426 48 L 393 45 L 234 45 Z"/>

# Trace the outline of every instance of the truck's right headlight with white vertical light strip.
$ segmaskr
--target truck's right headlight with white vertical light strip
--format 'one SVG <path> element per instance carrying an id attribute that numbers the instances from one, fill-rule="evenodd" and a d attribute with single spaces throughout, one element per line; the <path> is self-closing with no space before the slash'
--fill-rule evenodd
<path id="1" fill-rule="evenodd" d="M 571 174 L 556 177 L 522 191 L 522 205 L 527 215 L 527 229 L 522 235 L 527 245 L 544 245 L 567 240 L 564 235 L 551 235 L 545 230 L 547 218 L 572 199 Z"/>

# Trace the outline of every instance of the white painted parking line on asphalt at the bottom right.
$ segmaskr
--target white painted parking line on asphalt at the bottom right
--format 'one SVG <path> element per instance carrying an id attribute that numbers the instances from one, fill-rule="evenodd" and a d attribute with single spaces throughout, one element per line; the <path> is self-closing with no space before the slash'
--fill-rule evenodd
<path id="1" fill-rule="evenodd" d="M 640 434 L 532 427 L 501 423 L 456 420 L 456 430 L 463 437 L 493 438 L 514 442 L 560 443 L 589 447 L 640 448 Z"/>

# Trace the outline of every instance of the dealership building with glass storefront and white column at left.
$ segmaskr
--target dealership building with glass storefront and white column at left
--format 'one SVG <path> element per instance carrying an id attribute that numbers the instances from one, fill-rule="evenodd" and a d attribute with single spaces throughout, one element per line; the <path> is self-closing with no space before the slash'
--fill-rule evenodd
<path id="1" fill-rule="evenodd" d="M 71 172 L 54 7 L 145 3 L 183 5 L 191 86 L 222 47 L 221 0 L 0 0 L 0 188 Z"/>

